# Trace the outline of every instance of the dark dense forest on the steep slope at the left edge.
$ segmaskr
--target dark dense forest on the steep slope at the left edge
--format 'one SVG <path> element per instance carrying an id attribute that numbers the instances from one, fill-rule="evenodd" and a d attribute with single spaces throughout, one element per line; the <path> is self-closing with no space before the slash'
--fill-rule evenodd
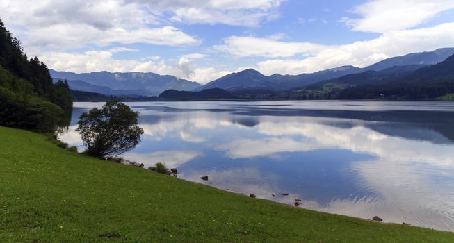
<path id="1" fill-rule="evenodd" d="M 0 125 L 53 132 L 71 112 L 67 83 L 53 83 L 47 66 L 29 59 L 0 19 Z"/>

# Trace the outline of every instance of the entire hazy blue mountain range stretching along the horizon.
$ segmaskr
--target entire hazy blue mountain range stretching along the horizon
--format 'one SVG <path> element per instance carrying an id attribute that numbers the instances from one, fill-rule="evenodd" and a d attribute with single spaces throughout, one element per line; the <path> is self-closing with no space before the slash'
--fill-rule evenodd
<path id="1" fill-rule="evenodd" d="M 54 80 L 67 80 L 72 90 L 95 92 L 114 96 L 158 96 L 165 90 L 194 91 L 220 88 L 239 96 L 273 94 L 289 90 L 314 89 L 321 87 L 346 87 L 380 79 L 389 81 L 413 72 L 416 69 L 446 60 L 454 54 L 454 48 L 437 49 L 405 56 L 388 58 L 368 67 L 342 66 L 311 74 L 266 76 L 254 69 L 228 74 L 206 85 L 180 79 L 170 75 L 154 73 L 111 73 L 92 72 L 76 74 L 50 70 Z M 350 83 L 349 83 L 350 82 Z M 352 83 L 353 82 L 353 83 Z M 355 83 L 357 82 L 357 83 Z M 182 94 L 182 93 L 181 93 Z"/>

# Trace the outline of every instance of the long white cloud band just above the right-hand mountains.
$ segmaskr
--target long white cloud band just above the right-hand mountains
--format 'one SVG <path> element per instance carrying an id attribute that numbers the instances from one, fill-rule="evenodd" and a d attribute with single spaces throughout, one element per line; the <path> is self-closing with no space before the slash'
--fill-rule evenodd
<path id="1" fill-rule="evenodd" d="M 309 56 L 299 59 L 273 59 L 257 63 L 264 74 L 302 74 L 317 72 L 343 65 L 365 67 L 391 56 L 401 56 L 419 51 L 433 51 L 452 47 L 454 23 L 430 28 L 391 31 L 380 37 L 352 44 L 323 46 L 308 42 L 282 42 L 257 37 L 229 37 L 220 51 L 241 57 L 290 57 L 297 54 Z"/>

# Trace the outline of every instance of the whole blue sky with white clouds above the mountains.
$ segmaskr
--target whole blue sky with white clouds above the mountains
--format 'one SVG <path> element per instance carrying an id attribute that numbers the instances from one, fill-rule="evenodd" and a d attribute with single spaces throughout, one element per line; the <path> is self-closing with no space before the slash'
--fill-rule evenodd
<path id="1" fill-rule="evenodd" d="M 0 0 L 29 57 L 69 72 L 199 83 L 302 74 L 454 47 L 454 0 Z"/>

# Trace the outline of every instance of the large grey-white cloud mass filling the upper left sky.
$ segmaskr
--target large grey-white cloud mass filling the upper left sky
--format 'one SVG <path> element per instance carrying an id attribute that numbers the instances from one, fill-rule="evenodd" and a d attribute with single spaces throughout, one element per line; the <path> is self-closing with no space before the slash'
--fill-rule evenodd
<path id="1" fill-rule="evenodd" d="M 200 40 L 175 27 L 149 26 L 175 21 L 258 26 L 277 15 L 281 1 L 6 0 L 0 1 L 0 9 L 3 22 L 21 37 L 26 50 L 33 52 L 115 42 L 200 44 Z"/>

